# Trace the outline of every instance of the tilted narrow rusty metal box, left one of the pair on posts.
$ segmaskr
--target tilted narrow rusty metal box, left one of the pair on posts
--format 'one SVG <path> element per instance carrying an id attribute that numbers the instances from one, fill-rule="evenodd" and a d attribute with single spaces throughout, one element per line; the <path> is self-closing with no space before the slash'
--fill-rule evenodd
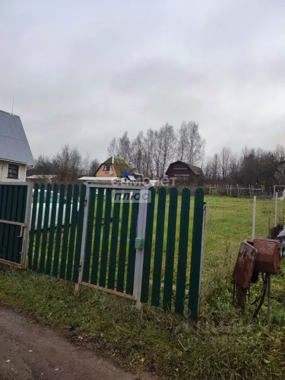
<path id="1" fill-rule="evenodd" d="M 255 247 L 247 241 L 242 241 L 233 273 L 233 280 L 240 287 L 248 288 L 250 286 L 257 255 L 258 251 Z"/>

